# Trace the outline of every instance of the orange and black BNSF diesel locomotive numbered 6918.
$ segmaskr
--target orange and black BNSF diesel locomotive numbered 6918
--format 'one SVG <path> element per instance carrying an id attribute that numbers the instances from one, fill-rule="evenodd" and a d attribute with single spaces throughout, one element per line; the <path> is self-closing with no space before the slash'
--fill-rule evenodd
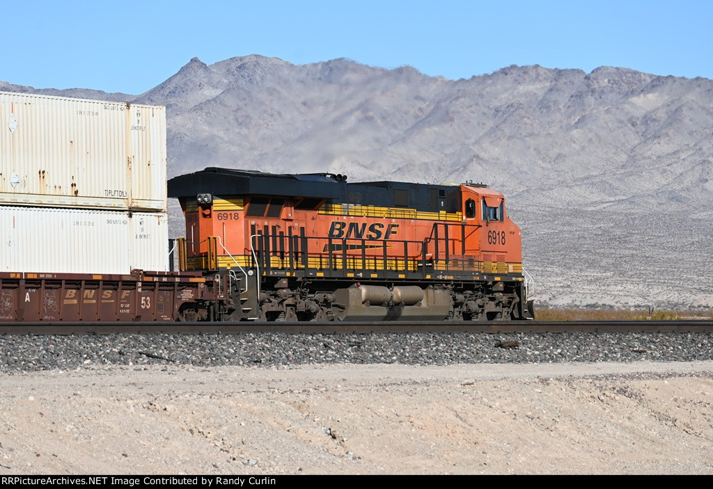
<path id="1" fill-rule="evenodd" d="M 532 317 L 520 228 L 484 185 L 207 168 L 168 195 L 186 221 L 180 269 L 215 273 L 222 319 Z"/>

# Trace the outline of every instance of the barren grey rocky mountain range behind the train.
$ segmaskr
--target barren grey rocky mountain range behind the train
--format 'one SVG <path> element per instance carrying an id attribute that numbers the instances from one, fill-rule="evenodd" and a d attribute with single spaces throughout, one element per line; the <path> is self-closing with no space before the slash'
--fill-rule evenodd
<path id="1" fill-rule="evenodd" d="M 538 65 L 448 80 L 253 55 L 193 58 L 141 95 L 0 90 L 165 105 L 170 176 L 485 182 L 523 228 L 536 300 L 713 307 L 713 80 Z"/>

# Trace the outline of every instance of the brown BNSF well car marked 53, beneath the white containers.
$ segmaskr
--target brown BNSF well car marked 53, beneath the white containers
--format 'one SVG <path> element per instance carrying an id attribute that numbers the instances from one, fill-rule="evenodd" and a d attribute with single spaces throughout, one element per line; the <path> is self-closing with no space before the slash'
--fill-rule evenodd
<path id="1" fill-rule="evenodd" d="M 200 273 L 0 273 L 0 322 L 220 320 L 222 290 Z"/>

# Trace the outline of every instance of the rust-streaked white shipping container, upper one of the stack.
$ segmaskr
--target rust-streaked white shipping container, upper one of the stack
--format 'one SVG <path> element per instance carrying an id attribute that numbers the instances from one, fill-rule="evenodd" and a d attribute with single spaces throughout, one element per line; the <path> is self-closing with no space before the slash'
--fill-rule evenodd
<path id="1" fill-rule="evenodd" d="M 165 107 L 0 92 L 0 204 L 165 211 Z"/>

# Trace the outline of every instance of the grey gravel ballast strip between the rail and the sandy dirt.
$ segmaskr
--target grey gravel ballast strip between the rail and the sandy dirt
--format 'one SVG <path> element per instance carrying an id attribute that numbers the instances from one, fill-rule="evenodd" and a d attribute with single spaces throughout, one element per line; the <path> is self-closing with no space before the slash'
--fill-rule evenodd
<path id="1" fill-rule="evenodd" d="M 6 335 L 0 352 L 0 372 L 137 364 L 684 362 L 713 359 L 713 334 Z"/>

